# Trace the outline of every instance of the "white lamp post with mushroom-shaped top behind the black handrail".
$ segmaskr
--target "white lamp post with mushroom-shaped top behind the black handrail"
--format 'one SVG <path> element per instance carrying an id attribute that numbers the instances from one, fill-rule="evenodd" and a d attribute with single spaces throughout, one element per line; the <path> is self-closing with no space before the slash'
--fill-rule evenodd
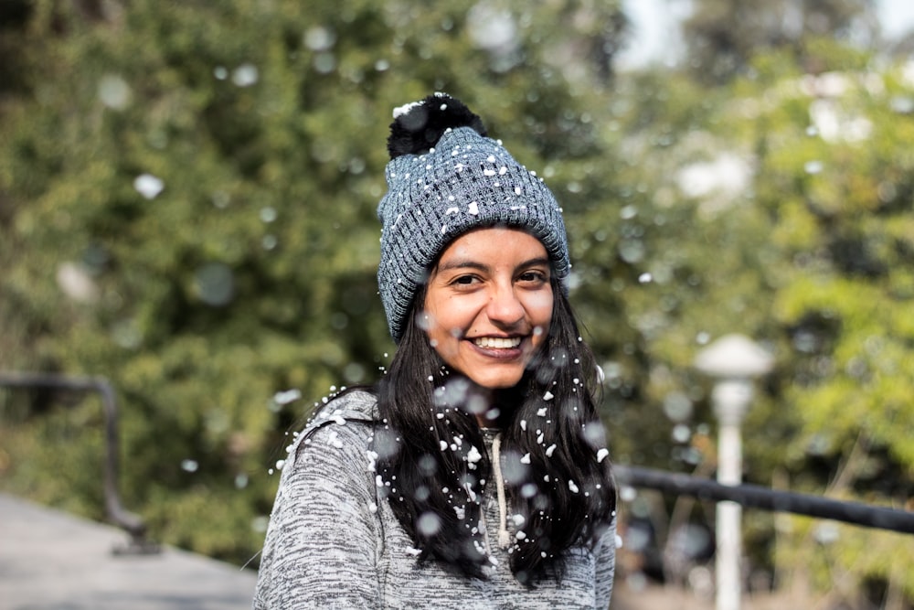
<path id="1" fill-rule="evenodd" d="M 711 393 L 717 417 L 717 482 L 742 482 L 740 425 L 752 401 L 752 380 L 768 373 L 771 354 L 749 337 L 727 335 L 704 348 L 695 359 L 696 369 L 715 380 Z M 717 503 L 717 610 L 739 610 L 742 593 L 740 558 L 742 509 L 736 502 Z"/>

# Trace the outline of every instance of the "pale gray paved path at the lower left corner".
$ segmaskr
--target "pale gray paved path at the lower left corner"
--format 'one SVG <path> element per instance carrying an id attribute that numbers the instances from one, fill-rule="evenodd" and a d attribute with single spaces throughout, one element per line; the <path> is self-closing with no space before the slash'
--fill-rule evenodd
<path id="1" fill-rule="evenodd" d="M 247 610 L 251 571 L 0 493 L 0 610 Z"/>

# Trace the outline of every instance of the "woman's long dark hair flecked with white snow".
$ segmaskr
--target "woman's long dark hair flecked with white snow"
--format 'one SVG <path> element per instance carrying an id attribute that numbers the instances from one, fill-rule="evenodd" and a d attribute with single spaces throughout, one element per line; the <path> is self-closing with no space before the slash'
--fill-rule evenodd
<path id="1" fill-rule="evenodd" d="M 598 369 L 568 299 L 555 280 L 552 287 L 547 340 L 520 383 L 482 405 L 500 411 L 505 492 L 524 532 L 512 540 L 511 570 L 526 584 L 550 569 L 560 578 L 569 548 L 596 543 L 616 503 L 596 409 Z M 397 353 L 377 384 L 377 473 L 420 561 L 438 560 L 484 578 L 488 559 L 478 524 L 493 473 L 474 414 L 481 412 L 481 397 L 430 347 L 417 322 L 424 292 L 416 295 Z"/>

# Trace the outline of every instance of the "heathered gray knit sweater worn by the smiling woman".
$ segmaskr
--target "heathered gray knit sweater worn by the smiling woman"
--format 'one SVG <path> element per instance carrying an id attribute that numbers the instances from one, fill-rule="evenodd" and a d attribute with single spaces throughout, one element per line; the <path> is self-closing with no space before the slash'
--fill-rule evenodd
<path id="1" fill-rule="evenodd" d="M 561 583 L 526 589 L 495 543 L 501 516 L 494 494 L 484 498 L 488 552 L 496 562 L 488 579 L 417 562 L 412 540 L 376 495 L 368 455 L 376 419 L 375 397 L 351 392 L 324 407 L 290 446 L 260 559 L 255 610 L 609 606 L 614 523 L 592 551 L 571 550 Z"/>

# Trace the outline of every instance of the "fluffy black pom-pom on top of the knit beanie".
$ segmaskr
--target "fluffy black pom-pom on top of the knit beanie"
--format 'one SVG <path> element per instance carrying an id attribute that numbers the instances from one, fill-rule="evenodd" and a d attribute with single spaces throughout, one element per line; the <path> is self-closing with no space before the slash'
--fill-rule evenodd
<path id="1" fill-rule="evenodd" d="M 390 158 L 424 155 L 438 144 L 444 132 L 458 127 L 472 127 L 486 135 L 483 120 L 447 93 L 434 93 L 420 102 L 400 106 L 394 110 L 394 122 L 390 123 Z"/>

